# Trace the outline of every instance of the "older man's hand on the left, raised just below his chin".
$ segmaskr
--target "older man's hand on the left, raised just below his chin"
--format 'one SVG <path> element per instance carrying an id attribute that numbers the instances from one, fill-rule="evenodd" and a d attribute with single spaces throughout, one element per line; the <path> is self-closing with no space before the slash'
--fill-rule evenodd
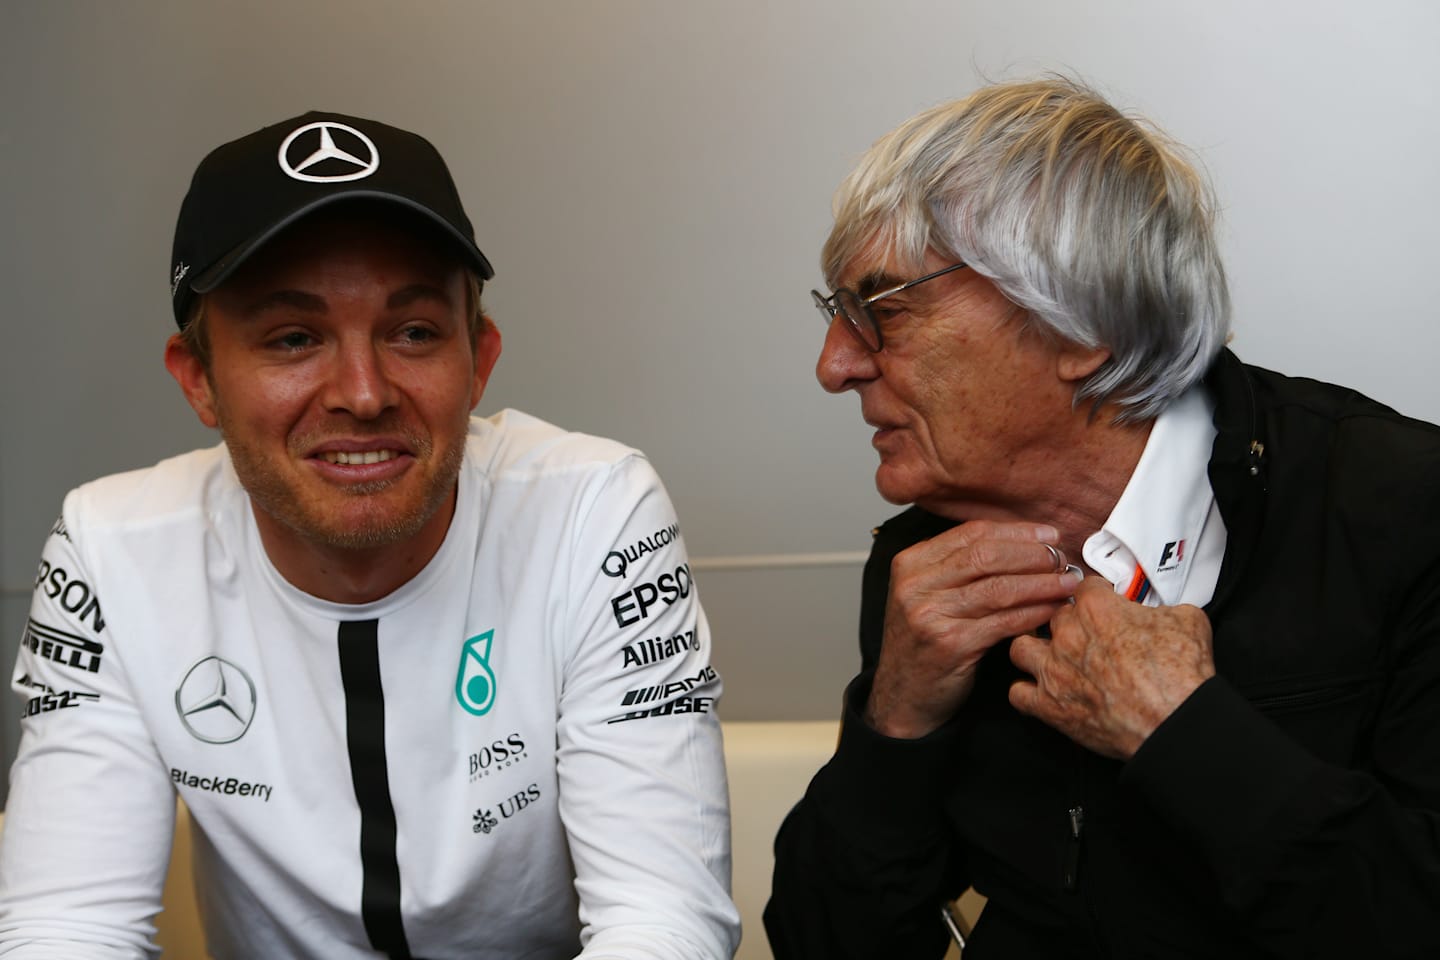
<path id="1" fill-rule="evenodd" d="M 949 720 L 985 651 L 1047 622 L 1074 592 L 1057 538 L 1047 525 L 972 521 L 897 554 L 867 723 L 913 738 Z"/>

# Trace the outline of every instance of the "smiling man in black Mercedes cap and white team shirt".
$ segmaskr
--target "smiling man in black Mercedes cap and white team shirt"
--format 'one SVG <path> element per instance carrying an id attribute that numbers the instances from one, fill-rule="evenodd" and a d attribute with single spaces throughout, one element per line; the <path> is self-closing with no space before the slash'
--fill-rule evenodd
<path id="1" fill-rule="evenodd" d="M 729 957 L 720 679 L 645 458 L 514 410 L 435 148 L 215 150 L 166 367 L 223 445 L 66 497 L 0 956 L 138 957 L 174 797 L 216 957 Z"/>

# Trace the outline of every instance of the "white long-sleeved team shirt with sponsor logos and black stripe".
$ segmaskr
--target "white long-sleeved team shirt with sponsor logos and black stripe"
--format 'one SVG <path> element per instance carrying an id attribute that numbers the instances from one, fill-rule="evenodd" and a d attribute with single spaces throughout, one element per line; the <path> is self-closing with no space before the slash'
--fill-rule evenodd
<path id="1" fill-rule="evenodd" d="M 230 957 L 730 957 L 720 679 L 635 450 L 475 419 L 423 571 L 338 604 L 222 448 L 73 491 L 13 687 L 0 956 L 140 957 L 190 807 Z"/>

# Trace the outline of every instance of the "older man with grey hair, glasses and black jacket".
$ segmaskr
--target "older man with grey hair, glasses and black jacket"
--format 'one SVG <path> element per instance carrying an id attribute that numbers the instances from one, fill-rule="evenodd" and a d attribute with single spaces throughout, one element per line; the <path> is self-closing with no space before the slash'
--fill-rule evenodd
<path id="1" fill-rule="evenodd" d="M 821 384 L 876 484 L 861 672 L 776 957 L 1440 956 L 1440 429 L 1246 366 L 1215 203 L 1084 86 L 878 141 Z"/>

